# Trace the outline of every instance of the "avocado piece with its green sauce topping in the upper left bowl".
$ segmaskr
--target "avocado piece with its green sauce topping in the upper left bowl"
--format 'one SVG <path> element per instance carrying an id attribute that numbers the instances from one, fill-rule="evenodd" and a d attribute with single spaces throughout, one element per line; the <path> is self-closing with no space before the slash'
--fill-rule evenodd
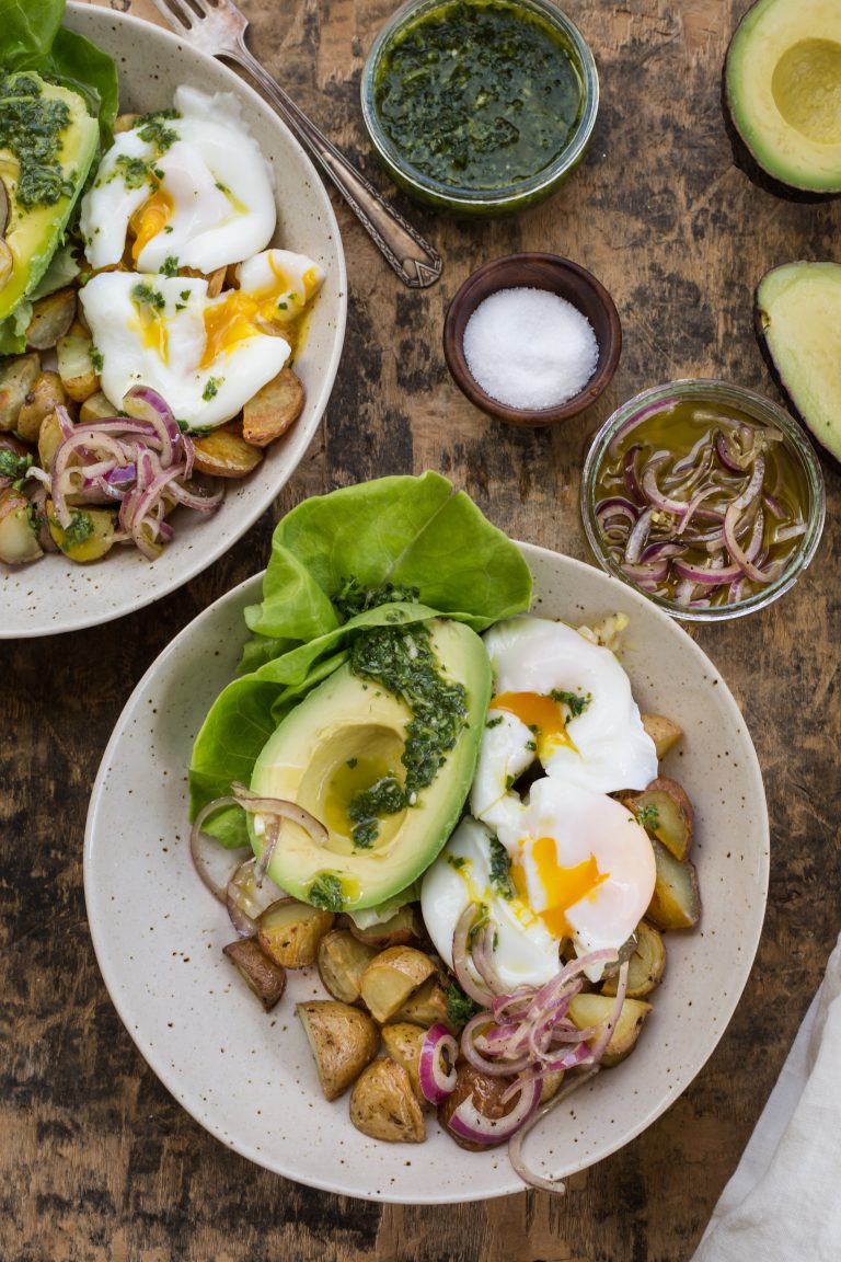
<path id="1" fill-rule="evenodd" d="M 11 251 L 0 321 L 47 270 L 98 139 L 100 125 L 76 92 L 32 72 L 0 78 L 0 179 L 9 201 L 3 236 Z"/>

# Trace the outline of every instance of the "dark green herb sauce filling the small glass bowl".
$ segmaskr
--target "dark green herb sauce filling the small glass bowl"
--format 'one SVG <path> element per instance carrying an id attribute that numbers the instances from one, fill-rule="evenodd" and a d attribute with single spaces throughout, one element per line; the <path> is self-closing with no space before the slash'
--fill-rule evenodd
<path id="1" fill-rule="evenodd" d="M 416 170 L 480 192 L 548 167 L 575 131 L 584 90 L 569 44 L 536 14 L 445 0 L 385 50 L 373 100 Z"/>

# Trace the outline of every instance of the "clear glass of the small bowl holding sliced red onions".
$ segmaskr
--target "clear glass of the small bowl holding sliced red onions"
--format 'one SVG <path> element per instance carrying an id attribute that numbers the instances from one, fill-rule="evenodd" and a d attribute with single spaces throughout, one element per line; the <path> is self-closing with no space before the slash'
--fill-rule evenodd
<path id="1" fill-rule="evenodd" d="M 668 599 L 629 578 L 622 567 L 610 555 L 596 520 L 596 482 L 608 448 L 619 430 L 628 425 L 639 413 L 653 413 L 661 410 L 663 405 L 673 401 L 688 400 L 699 404 L 715 406 L 736 408 L 745 413 L 751 420 L 775 427 L 782 432 L 786 448 L 799 464 L 803 475 L 803 483 L 808 502 L 804 505 L 803 517 L 807 524 L 806 533 L 799 539 L 797 546 L 787 560 L 783 572 L 759 591 L 735 601 L 733 604 L 714 604 L 705 608 L 688 608 L 678 601 Z M 658 604 L 666 613 L 678 618 L 681 622 L 726 622 L 730 618 L 743 617 L 754 610 L 764 610 L 775 601 L 783 592 L 797 582 L 806 567 L 812 560 L 823 530 L 826 514 L 826 491 L 823 486 L 823 473 L 815 451 L 803 433 L 802 427 L 783 408 L 772 403 L 753 390 L 743 386 L 730 385 L 726 381 L 707 379 L 672 381 L 668 385 L 654 386 L 643 390 L 642 394 L 629 399 L 608 420 L 593 439 L 590 451 L 584 463 L 581 478 L 581 516 L 584 529 L 593 549 L 593 553 L 604 570 L 622 579 L 629 587 L 634 587 L 643 596 Z"/>

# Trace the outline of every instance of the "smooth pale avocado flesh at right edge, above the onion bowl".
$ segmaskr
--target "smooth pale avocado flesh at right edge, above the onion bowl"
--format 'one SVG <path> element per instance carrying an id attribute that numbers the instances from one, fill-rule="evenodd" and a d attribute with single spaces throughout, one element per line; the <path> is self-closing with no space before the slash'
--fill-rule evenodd
<path id="1" fill-rule="evenodd" d="M 767 273 L 757 326 L 803 424 L 841 459 L 841 264 L 788 262 Z"/>

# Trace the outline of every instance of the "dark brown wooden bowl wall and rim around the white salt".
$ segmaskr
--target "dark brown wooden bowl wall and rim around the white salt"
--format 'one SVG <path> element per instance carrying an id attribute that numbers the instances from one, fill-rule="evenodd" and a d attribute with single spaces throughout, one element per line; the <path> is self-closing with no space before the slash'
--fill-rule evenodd
<path id="1" fill-rule="evenodd" d="M 584 281 L 608 318 L 609 334 L 605 342 L 599 343 L 599 363 L 593 376 L 583 390 L 580 390 L 576 395 L 572 395 L 571 399 L 567 399 L 565 403 L 557 404 L 554 408 L 512 408 L 509 404 L 499 403 L 498 399 L 494 399 L 482 389 L 470 372 L 464 355 L 464 328 L 470 316 L 473 316 L 484 300 L 484 297 L 489 297 L 489 294 L 485 294 L 483 298 L 474 302 L 477 292 L 480 292 L 484 288 L 485 280 L 489 276 L 493 276 L 496 271 L 507 268 L 516 268 L 518 265 L 528 266 L 531 264 L 546 264 L 555 268 L 560 274 L 566 273 Z M 499 284 L 493 292 L 498 293 L 503 289 L 517 288 L 523 288 L 522 283 L 503 283 Z M 540 286 L 532 285 L 531 288 Z M 548 289 L 547 293 L 557 293 L 557 290 Z M 559 294 L 559 297 L 564 295 Z M 571 299 L 567 299 L 567 302 L 570 300 Z M 574 305 L 576 304 L 574 303 Z M 484 411 L 487 415 L 494 416 L 497 420 L 507 422 L 511 425 L 519 425 L 528 429 L 542 429 L 547 425 L 555 425 L 559 422 L 570 420 L 572 416 L 577 416 L 581 411 L 594 404 L 609 386 L 617 371 L 620 355 L 622 321 L 619 319 L 619 312 L 617 310 L 617 304 L 614 303 L 610 293 L 598 276 L 584 268 L 580 262 L 575 262 L 572 259 L 566 259 L 560 254 L 530 250 L 517 254 L 501 255 L 497 259 L 489 259 L 461 281 L 450 300 L 444 318 L 444 358 L 446 360 L 450 375 L 461 394 L 469 399 L 475 408 Z"/>

